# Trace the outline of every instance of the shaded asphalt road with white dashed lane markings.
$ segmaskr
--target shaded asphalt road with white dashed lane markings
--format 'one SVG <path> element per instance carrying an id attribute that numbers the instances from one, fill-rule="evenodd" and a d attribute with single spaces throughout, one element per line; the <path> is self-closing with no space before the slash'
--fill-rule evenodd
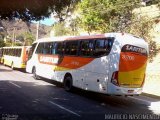
<path id="1" fill-rule="evenodd" d="M 160 119 L 149 100 L 143 96 L 107 96 L 79 89 L 69 93 L 52 80 L 34 80 L 31 74 L 0 65 L 2 120 L 144 119 L 149 115 Z"/>

